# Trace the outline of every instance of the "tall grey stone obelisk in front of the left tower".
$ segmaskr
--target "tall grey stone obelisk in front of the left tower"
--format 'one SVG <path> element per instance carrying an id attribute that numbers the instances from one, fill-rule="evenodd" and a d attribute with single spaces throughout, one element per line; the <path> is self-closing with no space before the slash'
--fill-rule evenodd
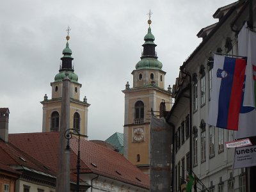
<path id="1" fill-rule="evenodd" d="M 67 74 L 63 79 L 62 98 L 61 98 L 61 116 L 60 116 L 60 138 L 58 148 L 58 169 L 56 177 L 56 191 L 70 191 L 70 168 L 69 152 L 66 150 L 65 131 L 69 127 L 70 112 L 70 79 Z"/>

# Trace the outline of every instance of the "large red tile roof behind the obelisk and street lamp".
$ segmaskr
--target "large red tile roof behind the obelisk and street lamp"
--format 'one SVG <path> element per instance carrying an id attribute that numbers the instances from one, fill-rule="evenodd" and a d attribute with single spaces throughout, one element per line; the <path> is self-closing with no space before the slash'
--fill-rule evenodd
<path id="1" fill-rule="evenodd" d="M 9 142 L 56 172 L 59 132 L 9 134 Z M 77 138 L 70 140 L 70 179 L 76 180 Z M 149 177 L 122 155 L 106 147 L 81 139 L 81 173 L 96 173 L 104 177 L 149 189 Z M 95 166 L 93 166 L 93 164 Z M 54 174 L 56 175 L 56 174 Z M 137 179 L 136 179 L 137 178 Z"/>

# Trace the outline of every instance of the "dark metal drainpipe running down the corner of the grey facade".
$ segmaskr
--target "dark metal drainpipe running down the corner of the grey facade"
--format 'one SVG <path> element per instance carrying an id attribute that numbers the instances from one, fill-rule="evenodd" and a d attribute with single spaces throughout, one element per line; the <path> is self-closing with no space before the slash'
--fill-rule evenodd
<path id="1" fill-rule="evenodd" d="M 189 173 L 192 173 L 192 84 L 191 84 L 191 74 L 183 71 L 184 67 L 180 66 L 180 71 L 189 77 Z"/>

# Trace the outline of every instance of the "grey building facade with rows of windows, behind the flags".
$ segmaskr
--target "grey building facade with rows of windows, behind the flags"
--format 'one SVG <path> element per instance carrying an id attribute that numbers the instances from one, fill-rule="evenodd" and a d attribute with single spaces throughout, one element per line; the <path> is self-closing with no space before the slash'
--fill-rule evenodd
<path id="1" fill-rule="evenodd" d="M 250 1 L 237 1 L 218 8 L 213 15 L 218 22 L 200 30 L 197 36 L 202 38 L 202 43 L 180 67 L 173 86 L 175 104 L 167 118 L 175 129 L 174 191 L 182 191 L 191 171 L 196 177 L 197 191 L 252 191 L 248 187 L 247 169 L 232 170 L 234 148 L 225 147 L 226 141 L 236 138 L 236 132 L 207 124 L 212 92 L 212 52 L 237 55 L 237 35 L 244 21 L 250 20 L 250 8 L 255 19 L 256 4 Z"/>

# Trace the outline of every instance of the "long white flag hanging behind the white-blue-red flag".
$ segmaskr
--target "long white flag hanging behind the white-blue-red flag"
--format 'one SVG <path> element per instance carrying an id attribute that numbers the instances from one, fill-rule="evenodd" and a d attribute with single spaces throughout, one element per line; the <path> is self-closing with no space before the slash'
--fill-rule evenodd
<path id="1" fill-rule="evenodd" d="M 238 54 L 247 57 L 245 82 L 236 138 L 256 136 L 256 33 L 245 23 L 238 35 Z"/>

